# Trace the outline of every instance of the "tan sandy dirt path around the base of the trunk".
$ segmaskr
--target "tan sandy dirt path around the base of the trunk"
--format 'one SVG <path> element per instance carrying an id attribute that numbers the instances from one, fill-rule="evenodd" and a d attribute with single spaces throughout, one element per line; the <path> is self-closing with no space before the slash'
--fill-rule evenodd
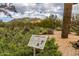
<path id="1" fill-rule="evenodd" d="M 53 37 L 56 39 L 56 43 L 59 46 L 59 50 L 62 52 L 63 56 L 77 56 L 79 55 L 79 49 L 75 50 L 70 42 L 79 40 L 79 36 L 74 33 L 69 34 L 69 38 L 62 39 L 61 31 L 55 31 Z"/>

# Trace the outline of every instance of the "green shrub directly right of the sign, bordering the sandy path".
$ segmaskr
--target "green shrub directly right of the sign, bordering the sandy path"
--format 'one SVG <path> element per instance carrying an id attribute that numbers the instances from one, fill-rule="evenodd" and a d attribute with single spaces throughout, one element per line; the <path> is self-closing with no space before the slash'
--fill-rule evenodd
<path id="1" fill-rule="evenodd" d="M 36 50 L 38 56 L 61 56 L 62 53 L 58 51 L 58 46 L 55 39 L 47 40 L 44 50 Z"/>

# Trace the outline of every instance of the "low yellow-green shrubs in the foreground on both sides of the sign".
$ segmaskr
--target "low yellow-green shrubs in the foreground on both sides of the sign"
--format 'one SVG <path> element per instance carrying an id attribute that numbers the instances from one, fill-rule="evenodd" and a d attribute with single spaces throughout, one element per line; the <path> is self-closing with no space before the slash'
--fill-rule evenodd
<path id="1" fill-rule="evenodd" d="M 1 56 L 32 56 L 33 49 L 28 47 L 32 34 L 39 34 L 44 28 L 35 27 L 23 34 L 23 29 L 15 27 L 15 29 L 0 28 L 0 55 Z M 55 40 L 48 40 L 44 50 L 37 50 L 36 55 L 61 55 Z M 44 53 L 45 52 L 45 53 Z"/>

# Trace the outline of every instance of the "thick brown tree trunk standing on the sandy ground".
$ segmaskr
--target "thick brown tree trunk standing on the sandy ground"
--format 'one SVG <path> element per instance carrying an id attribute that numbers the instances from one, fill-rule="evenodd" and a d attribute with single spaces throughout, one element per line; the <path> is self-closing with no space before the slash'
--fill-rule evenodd
<path id="1" fill-rule="evenodd" d="M 62 38 L 68 38 L 71 24 L 72 3 L 64 3 L 64 16 L 62 25 Z"/>

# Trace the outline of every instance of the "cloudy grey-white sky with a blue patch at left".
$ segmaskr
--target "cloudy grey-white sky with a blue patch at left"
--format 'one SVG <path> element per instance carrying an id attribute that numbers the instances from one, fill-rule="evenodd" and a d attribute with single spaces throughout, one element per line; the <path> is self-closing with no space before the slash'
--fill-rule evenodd
<path id="1" fill-rule="evenodd" d="M 50 14 L 57 15 L 59 18 L 63 17 L 63 3 L 13 3 L 15 5 L 18 13 L 11 12 L 7 10 L 13 18 L 22 18 L 22 17 L 38 17 L 45 18 Z M 72 14 L 79 13 L 79 4 L 73 5 Z M 5 19 L 4 19 L 5 18 Z M 9 19 L 8 19 L 9 18 Z M 13 19 L 11 18 L 11 19 Z M 10 21 L 10 17 L 4 13 L 0 13 L 0 19 L 3 21 Z"/>

